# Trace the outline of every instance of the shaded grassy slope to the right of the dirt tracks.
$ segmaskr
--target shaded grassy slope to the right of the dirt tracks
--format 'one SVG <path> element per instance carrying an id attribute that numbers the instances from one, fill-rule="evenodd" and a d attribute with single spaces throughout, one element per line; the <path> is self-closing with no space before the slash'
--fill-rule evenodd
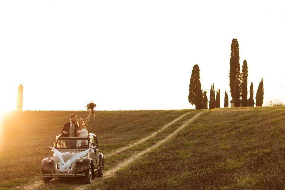
<path id="1" fill-rule="evenodd" d="M 284 142 L 285 107 L 214 109 L 100 188 L 285 189 Z"/>

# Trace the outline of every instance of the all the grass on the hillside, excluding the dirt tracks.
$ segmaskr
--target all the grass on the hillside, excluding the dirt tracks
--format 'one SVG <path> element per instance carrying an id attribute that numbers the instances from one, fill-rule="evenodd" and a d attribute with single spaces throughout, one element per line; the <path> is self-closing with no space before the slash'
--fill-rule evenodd
<path id="1" fill-rule="evenodd" d="M 106 170 L 151 146 L 199 111 L 98 111 L 90 119 L 103 153 L 157 131 L 191 111 L 145 143 L 106 158 Z M 40 175 L 42 158 L 70 114 L 26 111 L 4 116 L 0 149 L 0 189 Z M 163 146 L 146 153 L 91 189 L 285 189 L 285 107 L 218 108 L 202 113 Z M 109 168 L 108 168 L 109 167 Z M 46 189 L 72 189 L 53 182 Z"/>

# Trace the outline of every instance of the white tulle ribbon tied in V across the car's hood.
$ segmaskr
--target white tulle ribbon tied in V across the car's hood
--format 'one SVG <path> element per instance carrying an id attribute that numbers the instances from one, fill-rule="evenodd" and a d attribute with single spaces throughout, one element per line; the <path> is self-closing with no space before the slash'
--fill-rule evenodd
<path id="1" fill-rule="evenodd" d="M 89 149 L 87 149 L 85 151 L 82 151 L 82 152 L 80 152 L 78 154 L 75 154 L 69 160 L 64 162 L 64 160 L 63 160 L 63 158 L 61 156 L 61 153 L 58 150 L 56 150 L 55 148 L 53 148 L 53 153 L 55 153 L 56 156 L 58 157 L 58 159 L 60 160 L 58 167 L 59 167 L 59 170 L 61 172 L 63 172 L 64 170 L 69 170 L 69 167 L 71 166 L 71 163 L 76 162 L 79 157 L 85 156 L 89 151 L 91 151 L 91 153 L 94 153 L 94 150 L 92 148 L 89 148 Z"/>

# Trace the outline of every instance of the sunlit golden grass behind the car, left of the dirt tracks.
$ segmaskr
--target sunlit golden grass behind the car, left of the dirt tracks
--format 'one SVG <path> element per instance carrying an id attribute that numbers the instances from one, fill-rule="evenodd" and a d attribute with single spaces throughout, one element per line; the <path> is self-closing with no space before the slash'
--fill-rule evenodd
<path id="1" fill-rule="evenodd" d="M 191 110 L 96 111 L 88 131 L 95 132 L 102 153 L 110 153 L 146 137 Z M 41 173 L 43 158 L 69 115 L 77 118 L 86 111 L 13 111 L 3 116 L 0 144 L 0 189 L 14 188 Z"/>

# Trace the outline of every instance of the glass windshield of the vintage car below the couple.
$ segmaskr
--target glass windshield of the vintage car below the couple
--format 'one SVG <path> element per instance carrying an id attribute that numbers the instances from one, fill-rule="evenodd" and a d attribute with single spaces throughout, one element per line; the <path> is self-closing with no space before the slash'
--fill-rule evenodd
<path id="1" fill-rule="evenodd" d="M 56 148 L 88 148 L 88 140 L 81 139 L 58 139 Z"/>

